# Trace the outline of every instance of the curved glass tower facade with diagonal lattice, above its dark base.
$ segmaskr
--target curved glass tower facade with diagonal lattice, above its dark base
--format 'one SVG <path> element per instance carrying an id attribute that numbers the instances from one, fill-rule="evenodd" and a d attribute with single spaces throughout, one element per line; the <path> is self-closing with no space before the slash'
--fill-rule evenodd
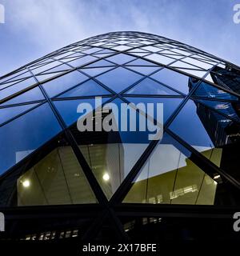
<path id="1" fill-rule="evenodd" d="M 239 95 L 238 66 L 153 34 L 102 34 L 30 62 L 0 78 L 0 206 L 237 204 Z M 87 116 L 118 119 L 79 113 L 97 96 L 162 103 L 162 137 L 79 131 Z"/>

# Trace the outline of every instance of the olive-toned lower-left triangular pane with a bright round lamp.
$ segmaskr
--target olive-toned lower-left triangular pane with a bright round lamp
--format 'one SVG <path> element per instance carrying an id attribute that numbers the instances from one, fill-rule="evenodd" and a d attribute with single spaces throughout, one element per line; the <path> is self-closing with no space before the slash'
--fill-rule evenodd
<path id="1" fill-rule="evenodd" d="M 58 138 L 54 150 L 28 168 L 16 184 L 17 206 L 96 203 L 71 146 Z"/>

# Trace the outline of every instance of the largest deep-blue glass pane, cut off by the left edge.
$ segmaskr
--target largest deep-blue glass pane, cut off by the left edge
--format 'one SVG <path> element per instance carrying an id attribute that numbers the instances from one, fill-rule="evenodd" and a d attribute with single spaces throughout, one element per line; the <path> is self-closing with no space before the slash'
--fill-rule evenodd
<path id="1" fill-rule="evenodd" d="M 0 128 L 0 174 L 61 131 L 50 106 L 43 104 Z"/>

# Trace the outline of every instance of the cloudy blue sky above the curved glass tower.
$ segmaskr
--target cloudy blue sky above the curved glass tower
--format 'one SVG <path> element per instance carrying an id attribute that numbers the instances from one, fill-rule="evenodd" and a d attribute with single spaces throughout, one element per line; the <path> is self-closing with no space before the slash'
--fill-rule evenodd
<path id="1" fill-rule="evenodd" d="M 0 0 L 0 76 L 72 42 L 137 30 L 185 42 L 240 66 L 240 0 Z"/>

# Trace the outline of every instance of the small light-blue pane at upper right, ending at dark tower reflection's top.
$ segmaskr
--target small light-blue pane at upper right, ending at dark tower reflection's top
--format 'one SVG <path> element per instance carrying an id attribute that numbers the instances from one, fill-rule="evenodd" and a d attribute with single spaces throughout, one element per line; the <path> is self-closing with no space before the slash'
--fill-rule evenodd
<path id="1" fill-rule="evenodd" d="M 151 75 L 151 78 L 154 78 L 175 90 L 179 90 L 182 93 L 188 94 L 189 92 L 189 77 L 184 74 L 179 74 L 178 72 L 165 68 Z"/>

